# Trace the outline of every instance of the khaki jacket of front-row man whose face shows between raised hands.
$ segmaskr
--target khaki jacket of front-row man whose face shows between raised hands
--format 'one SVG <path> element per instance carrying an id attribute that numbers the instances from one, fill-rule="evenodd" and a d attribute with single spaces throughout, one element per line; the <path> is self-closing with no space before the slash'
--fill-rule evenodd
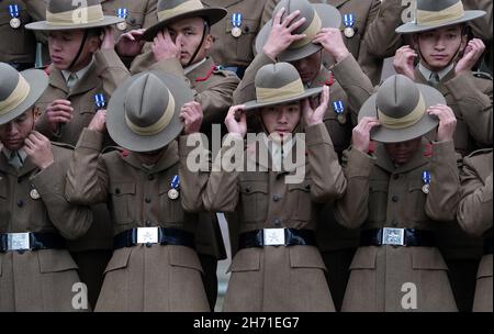
<path id="1" fill-rule="evenodd" d="M 243 141 L 237 138 L 236 144 L 243 145 Z M 205 209 L 237 211 L 240 233 L 281 227 L 315 231 L 318 204 L 341 197 L 346 180 L 323 124 L 306 129 L 305 144 L 307 162 L 297 160 L 284 171 L 274 171 L 270 158 L 258 159 L 259 171 L 255 172 L 213 170 L 204 192 Z M 227 148 L 222 151 L 223 160 L 229 162 L 232 151 Z M 305 147 L 295 143 L 293 149 Z M 248 147 L 246 154 L 255 162 L 255 149 Z M 287 183 L 288 175 L 293 176 L 302 166 L 302 180 Z M 224 311 L 334 311 L 324 270 L 321 254 L 313 246 L 242 249 L 229 268 Z"/>

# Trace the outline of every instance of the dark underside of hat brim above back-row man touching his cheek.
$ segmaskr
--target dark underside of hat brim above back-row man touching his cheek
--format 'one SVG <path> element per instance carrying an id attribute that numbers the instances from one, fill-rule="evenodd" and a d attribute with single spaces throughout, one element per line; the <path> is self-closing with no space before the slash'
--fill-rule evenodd
<path id="1" fill-rule="evenodd" d="M 194 11 L 186 12 L 183 14 L 171 16 L 167 20 L 159 21 L 155 25 L 149 26 L 143 34 L 144 41 L 153 42 L 156 35 L 164 30 L 164 27 L 168 26 L 170 23 L 177 22 L 179 20 L 189 19 L 189 18 L 205 18 L 210 25 L 213 25 L 223 20 L 228 12 L 223 8 L 212 7 L 198 9 Z"/>

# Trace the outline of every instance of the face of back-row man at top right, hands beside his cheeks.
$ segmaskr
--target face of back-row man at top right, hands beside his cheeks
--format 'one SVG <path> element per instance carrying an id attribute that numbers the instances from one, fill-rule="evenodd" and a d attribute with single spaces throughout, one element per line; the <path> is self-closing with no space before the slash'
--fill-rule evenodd
<path id="1" fill-rule="evenodd" d="M 419 49 L 426 64 L 433 71 L 448 66 L 457 53 L 464 49 L 467 36 L 461 34 L 462 26 L 446 26 L 414 36 L 415 48 Z"/>

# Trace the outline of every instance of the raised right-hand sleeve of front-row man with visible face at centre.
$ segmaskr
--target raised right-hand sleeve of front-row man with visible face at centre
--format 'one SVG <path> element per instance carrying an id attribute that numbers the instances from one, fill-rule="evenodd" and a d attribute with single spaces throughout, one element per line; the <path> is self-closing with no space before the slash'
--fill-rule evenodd
<path id="1" fill-rule="evenodd" d="M 324 124 L 305 130 L 308 165 L 311 167 L 311 199 L 328 203 L 344 196 L 347 180 Z"/>

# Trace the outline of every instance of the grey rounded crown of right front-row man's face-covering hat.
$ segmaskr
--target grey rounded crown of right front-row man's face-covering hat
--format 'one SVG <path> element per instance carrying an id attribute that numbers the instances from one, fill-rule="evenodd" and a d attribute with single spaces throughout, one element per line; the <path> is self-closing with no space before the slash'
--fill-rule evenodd
<path id="1" fill-rule="evenodd" d="M 392 119 L 403 119 L 412 113 L 420 100 L 420 91 L 408 77 L 396 75 L 379 88 L 375 104 L 378 110 Z"/>

